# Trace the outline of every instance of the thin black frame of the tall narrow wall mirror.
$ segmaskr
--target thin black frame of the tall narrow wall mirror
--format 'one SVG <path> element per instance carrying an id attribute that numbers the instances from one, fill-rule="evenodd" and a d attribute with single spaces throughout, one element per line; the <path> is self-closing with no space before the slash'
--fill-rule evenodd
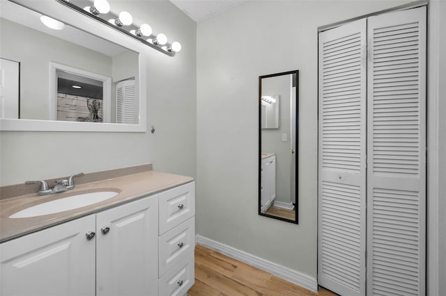
<path id="1" fill-rule="evenodd" d="M 261 213 L 261 162 L 262 162 L 262 127 L 261 127 L 261 116 L 262 116 L 262 79 L 270 78 L 270 77 L 276 77 L 276 76 L 284 76 L 284 75 L 290 75 L 295 74 L 295 220 L 289 220 L 284 217 L 278 217 L 275 215 L 268 215 L 266 213 Z M 259 76 L 259 215 L 264 217 L 270 217 L 277 220 L 282 220 L 285 222 L 290 222 L 293 224 L 299 224 L 298 223 L 298 172 L 299 172 L 299 70 L 293 70 L 288 72 L 280 72 L 275 74 L 268 74 Z"/>

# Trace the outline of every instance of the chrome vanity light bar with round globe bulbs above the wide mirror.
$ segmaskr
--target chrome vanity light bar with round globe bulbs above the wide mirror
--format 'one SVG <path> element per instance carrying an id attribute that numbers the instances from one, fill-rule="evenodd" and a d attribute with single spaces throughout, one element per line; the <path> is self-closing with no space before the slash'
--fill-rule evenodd
<path id="1" fill-rule="evenodd" d="M 157 35 L 153 34 L 151 26 L 148 24 L 141 24 L 137 26 L 133 24 L 133 19 L 130 13 L 121 12 L 119 14 L 110 10 L 107 0 L 56 0 L 69 8 L 76 10 L 82 15 L 91 17 L 106 26 L 114 28 L 133 39 L 142 42 L 157 51 L 167 54 L 167 56 L 175 56 L 176 52 L 181 50 L 179 42 L 167 42 L 167 37 L 163 33 Z"/>

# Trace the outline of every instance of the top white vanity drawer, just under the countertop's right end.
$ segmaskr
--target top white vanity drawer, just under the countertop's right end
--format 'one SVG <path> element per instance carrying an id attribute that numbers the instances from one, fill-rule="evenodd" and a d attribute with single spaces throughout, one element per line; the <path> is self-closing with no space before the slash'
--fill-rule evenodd
<path id="1" fill-rule="evenodd" d="M 195 182 L 161 192 L 158 200 L 161 236 L 195 215 Z"/>

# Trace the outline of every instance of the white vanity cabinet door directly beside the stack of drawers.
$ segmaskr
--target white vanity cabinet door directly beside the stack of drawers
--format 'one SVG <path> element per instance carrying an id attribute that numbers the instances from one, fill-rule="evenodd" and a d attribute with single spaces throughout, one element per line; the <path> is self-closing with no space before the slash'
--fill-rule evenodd
<path id="1" fill-rule="evenodd" d="M 157 295 L 157 197 L 98 213 L 96 295 Z"/>

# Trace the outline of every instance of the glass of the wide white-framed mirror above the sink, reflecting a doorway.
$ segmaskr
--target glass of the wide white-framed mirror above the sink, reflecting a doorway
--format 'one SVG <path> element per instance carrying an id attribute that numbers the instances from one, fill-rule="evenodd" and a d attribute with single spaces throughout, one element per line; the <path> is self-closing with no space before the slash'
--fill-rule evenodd
<path id="1" fill-rule="evenodd" d="M 126 124 L 139 124 L 137 52 L 68 24 L 49 28 L 40 13 L 11 1 L 0 11 L 0 67 L 13 77 L 1 118 L 116 123 L 125 115 Z M 122 81 L 133 84 L 127 97 L 119 97 Z"/>

